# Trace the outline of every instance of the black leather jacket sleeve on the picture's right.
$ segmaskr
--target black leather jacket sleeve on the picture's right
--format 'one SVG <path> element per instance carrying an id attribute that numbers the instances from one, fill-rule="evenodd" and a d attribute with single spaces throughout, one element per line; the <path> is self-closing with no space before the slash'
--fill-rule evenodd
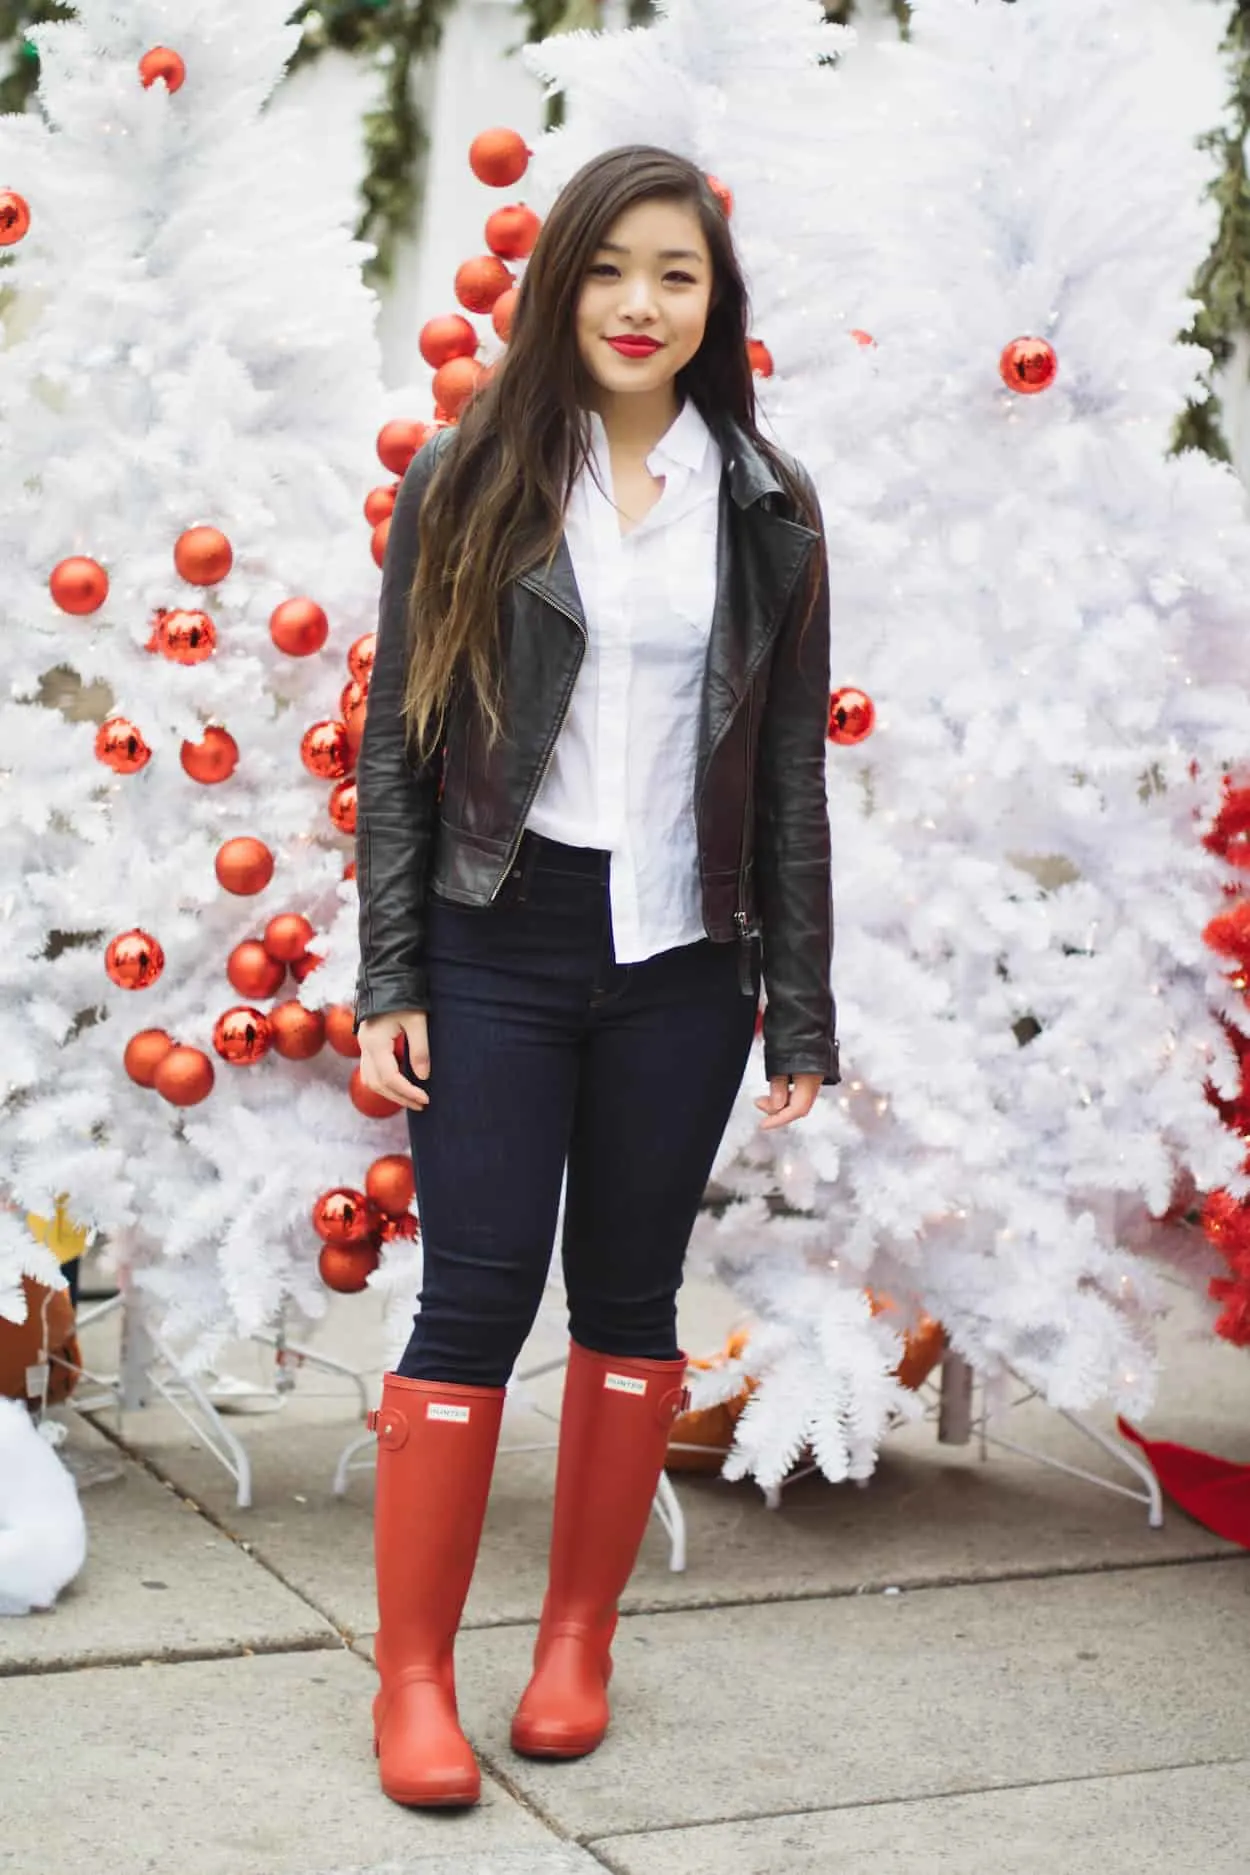
<path id="1" fill-rule="evenodd" d="M 802 472 L 802 471 L 800 471 Z M 806 480 L 806 476 L 804 476 Z M 815 489 L 808 482 L 815 504 Z M 755 887 L 763 924 L 765 1074 L 841 1080 L 834 951 L 832 855 L 826 797 L 828 555 L 815 542 L 819 585 L 804 562 L 778 634 L 759 728 Z"/>

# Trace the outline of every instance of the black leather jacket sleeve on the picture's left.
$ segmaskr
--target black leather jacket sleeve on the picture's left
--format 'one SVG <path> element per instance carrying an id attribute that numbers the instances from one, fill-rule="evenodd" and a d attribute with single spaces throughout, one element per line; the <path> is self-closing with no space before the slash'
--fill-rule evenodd
<path id="1" fill-rule="evenodd" d="M 439 816 L 439 767 L 409 759 L 403 692 L 409 669 L 409 591 L 416 576 L 418 516 L 442 431 L 409 463 L 392 514 L 365 733 L 356 763 L 356 891 L 360 971 L 356 1022 L 397 1009 L 429 1009 L 425 879 Z"/>

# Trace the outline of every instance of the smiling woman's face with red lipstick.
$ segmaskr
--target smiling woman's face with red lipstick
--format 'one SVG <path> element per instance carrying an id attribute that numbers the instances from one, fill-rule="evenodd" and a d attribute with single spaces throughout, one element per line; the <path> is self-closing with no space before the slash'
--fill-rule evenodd
<path id="1" fill-rule="evenodd" d="M 600 390 L 662 390 L 703 343 L 712 257 L 682 202 L 628 208 L 590 261 L 577 300 L 577 351 Z"/>

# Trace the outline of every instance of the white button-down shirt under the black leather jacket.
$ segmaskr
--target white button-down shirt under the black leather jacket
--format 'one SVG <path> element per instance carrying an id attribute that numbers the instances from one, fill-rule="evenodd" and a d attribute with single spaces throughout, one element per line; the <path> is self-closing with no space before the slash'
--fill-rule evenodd
<path id="1" fill-rule="evenodd" d="M 598 412 L 590 431 L 594 474 L 564 516 L 588 645 L 525 825 L 611 853 L 613 947 L 637 964 L 705 936 L 693 793 L 722 456 L 688 398 L 647 458 L 663 491 L 622 534 Z"/>

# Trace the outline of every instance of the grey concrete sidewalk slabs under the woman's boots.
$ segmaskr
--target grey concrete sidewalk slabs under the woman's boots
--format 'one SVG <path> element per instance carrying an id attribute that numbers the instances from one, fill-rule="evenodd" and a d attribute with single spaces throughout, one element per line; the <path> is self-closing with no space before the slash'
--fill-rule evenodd
<path id="1" fill-rule="evenodd" d="M 688 1282 L 684 1341 L 733 1303 Z M 1158 1436 L 1250 1461 L 1250 1356 L 1181 1299 Z M 101 1326 L 88 1365 L 114 1365 Z M 373 1298 L 317 1344 L 375 1374 Z M 558 1298 L 527 1359 L 562 1344 Z M 268 1384 L 272 1356 L 229 1367 Z M 377 1388 L 373 1388 L 377 1391 Z M 560 1376 L 510 1402 L 551 1440 Z M 476 1811 L 388 1804 L 369 1738 L 371 1474 L 311 1369 L 231 1423 L 255 1508 L 167 1406 L 69 1416 L 120 1457 L 82 1492 L 90 1554 L 58 1607 L 0 1622 L 0 1869 L 13 1875 L 1244 1875 L 1250 1556 L 1169 1509 L 1034 1462 L 890 1438 L 866 1489 L 678 1479 L 690 1566 L 652 1522 L 617 1644 L 615 1723 L 573 1764 L 512 1755 L 555 1455 L 500 1457 L 459 1644 Z M 1104 1416 L 1100 1421 L 1109 1425 Z M 1109 1470 L 1040 1408 L 1010 1436 Z M 118 1449 L 120 1442 L 120 1449 Z"/>

